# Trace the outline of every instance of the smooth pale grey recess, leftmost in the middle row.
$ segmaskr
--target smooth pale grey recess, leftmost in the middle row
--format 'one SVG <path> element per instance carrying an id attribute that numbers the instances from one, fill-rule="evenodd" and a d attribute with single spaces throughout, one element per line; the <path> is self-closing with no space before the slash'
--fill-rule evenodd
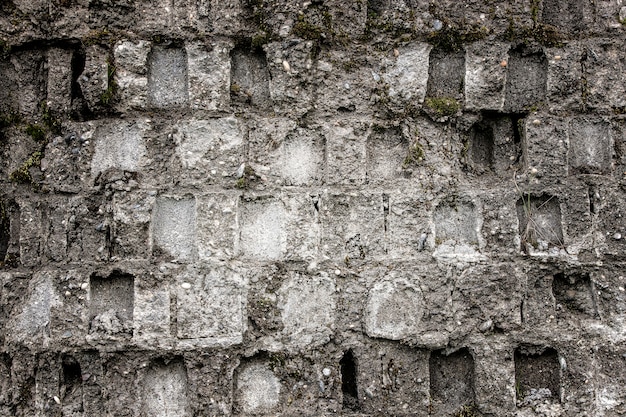
<path id="1" fill-rule="evenodd" d="M 152 250 L 165 251 L 182 261 L 198 254 L 196 244 L 196 198 L 161 196 L 152 212 Z"/>

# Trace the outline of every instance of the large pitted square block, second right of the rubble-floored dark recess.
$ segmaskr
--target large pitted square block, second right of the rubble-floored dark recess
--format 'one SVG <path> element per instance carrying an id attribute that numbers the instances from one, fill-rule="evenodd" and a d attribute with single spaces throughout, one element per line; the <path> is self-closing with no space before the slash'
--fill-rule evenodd
<path id="1" fill-rule="evenodd" d="M 246 285 L 238 272 L 223 265 L 189 266 L 174 285 L 178 347 L 241 343 L 247 301 Z"/>

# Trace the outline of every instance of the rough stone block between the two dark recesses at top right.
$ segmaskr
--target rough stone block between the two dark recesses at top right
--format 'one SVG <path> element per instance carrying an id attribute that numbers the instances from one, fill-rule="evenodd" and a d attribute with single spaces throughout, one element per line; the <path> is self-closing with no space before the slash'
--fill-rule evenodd
<path id="1" fill-rule="evenodd" d="M 508 43 L 475 43 L 466 47 L 465 107 L 502 110 L 509 59 Z"/>

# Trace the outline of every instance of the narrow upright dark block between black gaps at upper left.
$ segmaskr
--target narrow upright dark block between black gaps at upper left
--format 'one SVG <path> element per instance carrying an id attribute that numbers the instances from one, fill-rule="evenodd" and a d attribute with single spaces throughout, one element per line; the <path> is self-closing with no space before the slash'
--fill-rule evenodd
<path id="1" fill-rule="evenodd" d="M 69 49 L 48 50 L 48 82 L 46 104 L 55 113 L 67 114 L 72 104 L 72 59 Z"/>

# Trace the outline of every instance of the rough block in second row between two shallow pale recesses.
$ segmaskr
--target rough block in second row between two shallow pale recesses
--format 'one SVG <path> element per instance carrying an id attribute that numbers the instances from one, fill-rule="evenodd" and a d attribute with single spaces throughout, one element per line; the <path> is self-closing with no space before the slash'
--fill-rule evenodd
<path id="1" fill-rule="evenodd" d="M 369 126 L 337 121 L 325 131 L 326 182 L 328 184 L 362 184 L 365 182 Z"/>

